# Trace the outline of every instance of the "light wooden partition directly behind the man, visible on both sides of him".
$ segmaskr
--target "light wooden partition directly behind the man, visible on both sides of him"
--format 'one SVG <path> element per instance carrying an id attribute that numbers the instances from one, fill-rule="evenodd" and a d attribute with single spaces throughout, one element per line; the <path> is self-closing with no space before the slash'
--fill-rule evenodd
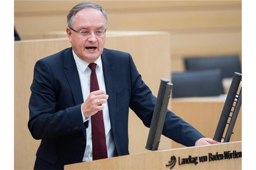
<path id="1" fill-rule="evenodd" d="M 165 45 L 163 45 L 164 43 Z M 169 33 L 127 33 L 106 39 L 106 48 L 129 52 L 137 69 L 153 94 L 158 93 L 160 79 L 170 75 Z M 32 138 L 28 127 L 30 85 L 36 61 L 70 47 L 67 38 L 28 40 L 14 43 L 14 168 L 33 169 L 40 140 Z M 157 56 L 157 61 L 155 59 Z M 148 69 L 150 67 L 150 69 Z M 161 69 L 159 69 L 161 68 Z M 144 127 L 137 116 L 129 114 L 130 153 L 145 151 L 149 128 Z M 171 140 L 162 137 L 160 148 L 171 148 Z"/>

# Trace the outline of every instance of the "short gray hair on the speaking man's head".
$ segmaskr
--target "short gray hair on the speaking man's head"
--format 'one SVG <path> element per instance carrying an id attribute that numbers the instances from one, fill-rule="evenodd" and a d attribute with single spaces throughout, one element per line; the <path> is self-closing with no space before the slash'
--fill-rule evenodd
<path id="1" fill-rule="evenodd" d="M 74 23 L 74 18 L 75 15 L 78 11 L 82 10 L 82 9 L 86 9 L 86 8 L 94 8 L 97 9 L 99 11 L 102 12 L 103 16 L 105 17 L 105 21 L 106 21 L 106 28 L 108 27 L 108 18 L 107 18 L 107 14 L 104 10 L 104 8 L 98 4 L 92 3 L 92 2 L 82 2 L 80 4 L 77 4 L 76 6 L 74 6 L 68 13 L 67 15 L 67 23 L 68 23 L 68 27 L 71 28 L 73 26 Z"/>

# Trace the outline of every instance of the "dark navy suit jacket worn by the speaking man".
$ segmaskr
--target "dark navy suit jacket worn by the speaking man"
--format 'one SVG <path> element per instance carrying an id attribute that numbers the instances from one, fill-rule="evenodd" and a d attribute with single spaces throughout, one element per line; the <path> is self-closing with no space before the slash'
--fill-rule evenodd
<path id="1" fill-rule="evenodd" d="M 129 107 L 150 127 L 156 98 L 129 53 L 104 48 L 101 58 L 116 152 L 127 155 Z M 31 92 L 28 128 L 35 139 L 42 139 L 34 168 L 63 169 L 82 162 L 88 121 L 84 124 L 81 115 L 83 96 L 72 48 L 37 61 Z M 163 134 L 186 146 L 203 137 L 171 111 Z"/>

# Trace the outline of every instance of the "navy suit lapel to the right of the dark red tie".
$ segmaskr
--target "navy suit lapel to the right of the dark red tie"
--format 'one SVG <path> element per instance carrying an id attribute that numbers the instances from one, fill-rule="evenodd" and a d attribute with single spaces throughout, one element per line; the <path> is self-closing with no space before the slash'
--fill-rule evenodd
<path id="1" fill-rule="evenodd" d="M 101 54 L 102 68 L 108 98 L 108 110 L 111 124 L 112 134 L 115 134 L 115 118 L 116 118 L 116 73 L 113 67 L 113 61 L 110 59 L 111 54 L 105 49 Z"/>

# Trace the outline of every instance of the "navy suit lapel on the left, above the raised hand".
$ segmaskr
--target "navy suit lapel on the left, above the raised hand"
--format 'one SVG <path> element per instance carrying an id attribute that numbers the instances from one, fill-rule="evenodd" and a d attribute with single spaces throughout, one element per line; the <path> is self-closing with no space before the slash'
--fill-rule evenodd
<path id="1" fill-rule="evenodd" d="M 75 105 L 82 104 L 84 102 L 83 93 L 81 89 L 81 83 L 77 71 L 77 66 L 73 57 L 72 48 L 69 48 L 65 52 L 64 68 L 66 69 L 65 75 L 71 88 Z M 84 128 L 82 131 L 86 139 L 86 128 Z"/>

